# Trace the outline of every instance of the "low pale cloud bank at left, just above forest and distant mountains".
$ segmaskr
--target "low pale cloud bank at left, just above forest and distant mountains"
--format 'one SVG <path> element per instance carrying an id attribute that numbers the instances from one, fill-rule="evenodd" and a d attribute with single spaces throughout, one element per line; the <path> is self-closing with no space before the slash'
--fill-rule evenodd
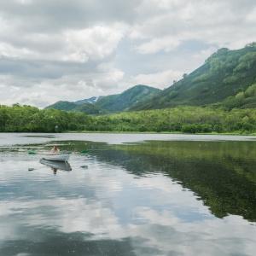
<path id="1" fill-rule="evenodd" d="M 90 96 L 116 92 L 113 84 L 119 84 L 124 73 L 117 68 L 104 67 L 85 74 L 67 74 L 59 79 L 18 79 L 12 75 L 0 76 L 1 104 L 15 102 L 45 107 L 59 100 L 76 101 Z M 26 84 L 26 86 L 24 86 Z M 11 97 L 9 97 L 11 96 Z"/>

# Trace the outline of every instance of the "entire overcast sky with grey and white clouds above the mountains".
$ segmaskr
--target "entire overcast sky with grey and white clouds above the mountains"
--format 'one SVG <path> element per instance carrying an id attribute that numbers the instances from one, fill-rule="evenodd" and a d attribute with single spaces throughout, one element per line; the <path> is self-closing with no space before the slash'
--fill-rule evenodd
<path id="1" fill-rule="evenodd" d="M 0 0 L 0 104 L 160 89 L 256 41 L 255 0 Z"/>

